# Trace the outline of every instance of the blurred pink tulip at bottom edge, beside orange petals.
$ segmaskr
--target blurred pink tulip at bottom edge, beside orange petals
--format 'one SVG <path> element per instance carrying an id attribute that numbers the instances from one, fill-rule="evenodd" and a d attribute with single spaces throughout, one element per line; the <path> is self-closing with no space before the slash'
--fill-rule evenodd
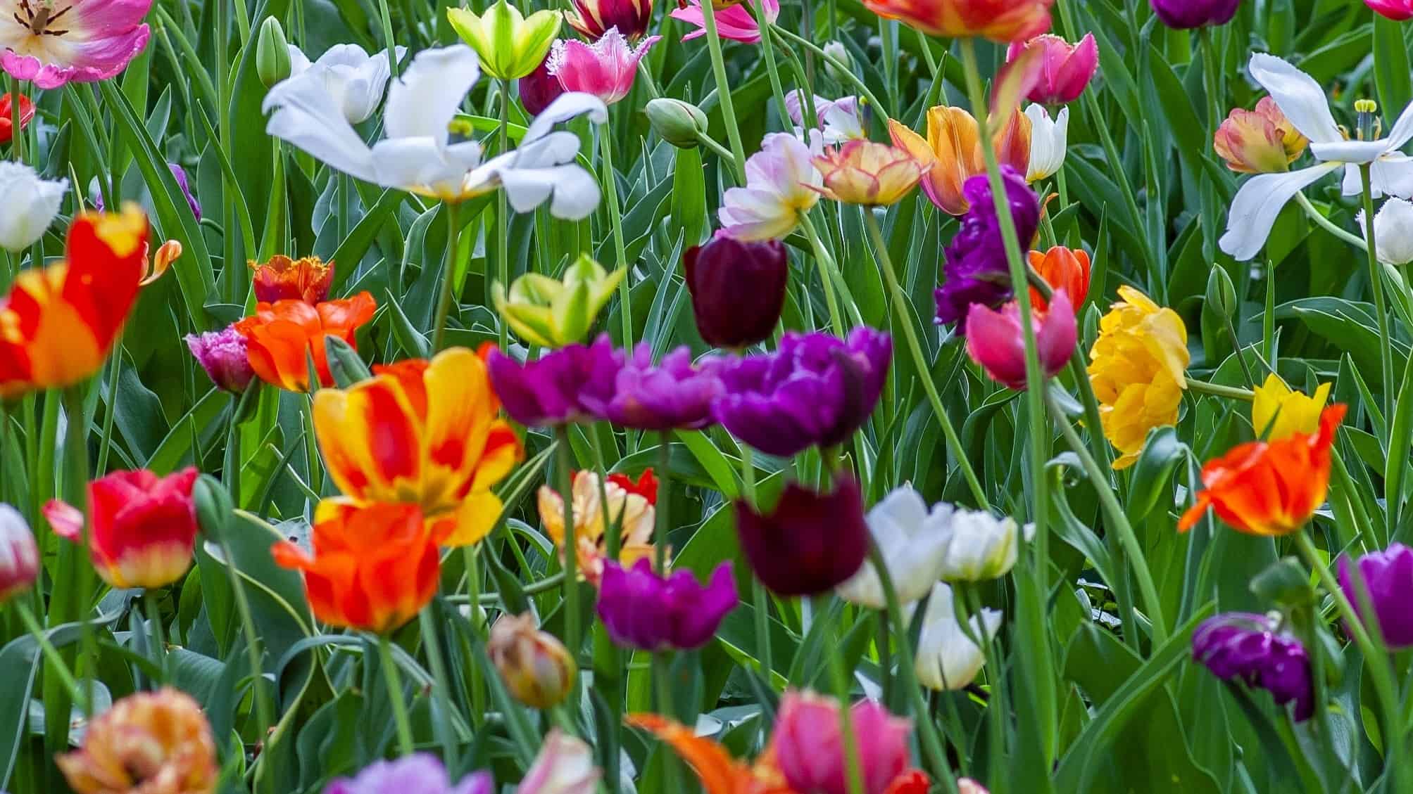
<path id="1" fill-rule="evenodd" d="M 862 780 L 861 794 L 885 794 L 909 763 L 913 723 L 873 700 L 849 708 L 849 726 Z M 839 701 L 786 690 L 776 712 L 770 753 L 793 791 L 849 794 L 849 764 L 841 731 Z"/>

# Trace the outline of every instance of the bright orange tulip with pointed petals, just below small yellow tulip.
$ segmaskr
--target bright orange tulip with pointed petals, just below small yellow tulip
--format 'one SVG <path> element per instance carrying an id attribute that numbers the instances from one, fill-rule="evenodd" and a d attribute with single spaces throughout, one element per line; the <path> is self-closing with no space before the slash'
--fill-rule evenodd
<path id="1" fill-rule="evenodd" d="M 1320 415 L 1320 429 L 1279 441 L 1251 441 L 1202 467 L 1205 491 L 1177 522 L 1187 532 L 1207 508 L 1248 535 L 1299 532 L 1330 487 L 1330 447 L 1344 419 L 1345 406 L 1331 405 Z"/>

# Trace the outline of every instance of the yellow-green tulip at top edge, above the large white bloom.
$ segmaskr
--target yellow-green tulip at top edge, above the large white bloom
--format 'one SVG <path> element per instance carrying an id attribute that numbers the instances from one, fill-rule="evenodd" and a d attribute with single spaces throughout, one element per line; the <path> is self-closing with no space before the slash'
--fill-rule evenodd
<path id="1" fill-rule="evenodd" d="M 528 18 L 499 0 L 476 16 L 468 8 L 447 8 L 447 18 L 462 41 L 480 56 L 480 68 L 493 78 L 519 80 L 544 61 L 560 34 L 558 11 L 536 11 Z"/>

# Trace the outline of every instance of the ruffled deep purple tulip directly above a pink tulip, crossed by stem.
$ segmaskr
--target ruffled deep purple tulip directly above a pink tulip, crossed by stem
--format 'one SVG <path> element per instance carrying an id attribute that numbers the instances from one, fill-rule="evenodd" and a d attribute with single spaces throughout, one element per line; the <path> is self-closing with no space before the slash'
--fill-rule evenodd
<path id="1" fill-rule="evenodd" d="M 1010 200 L 1010 217 L 1016 221 L 1016 238 L 1020 250 L 1026 251 L 1040 228 L 1040 199 L 1026 185 L 1023 175 L 1005 165 L 1000 171 Z M 962 227 L 947 247 L 942 286 L 934 293 L 937 322 L 957 323 L 959 334 L 966 333 L 966 312 L 972 303 L 996 309 L 1015 293 L 988 176 L 981 173 L 968 179 L 962 195 L 971 209 L 962 216 Z"/>

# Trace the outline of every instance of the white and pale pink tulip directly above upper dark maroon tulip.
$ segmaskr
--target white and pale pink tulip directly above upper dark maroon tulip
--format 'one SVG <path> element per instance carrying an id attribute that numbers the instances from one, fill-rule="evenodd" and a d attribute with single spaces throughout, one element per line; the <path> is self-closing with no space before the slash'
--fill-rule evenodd
<path id="1" fill-rule="evenodd" d="M 779 240 L 820 200 L 824 178 L 800 138 L 771 133 L 746 161 L 746 186 L 722 193 L 716 217 L 722 231 L 743 243 Z"/>

